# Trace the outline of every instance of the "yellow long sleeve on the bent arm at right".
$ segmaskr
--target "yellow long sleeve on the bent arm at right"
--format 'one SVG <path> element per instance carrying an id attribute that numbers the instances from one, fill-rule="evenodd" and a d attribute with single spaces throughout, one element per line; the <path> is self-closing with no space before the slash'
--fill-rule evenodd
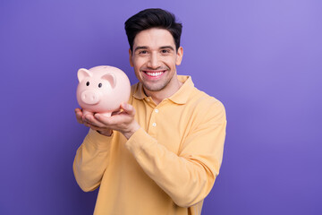
<path id="1" fill-rule="evenodd" d="M 218 101 L 199 112 L 177 154 L 142 128 L 126 142 L 140 167 L 181 207 L 208 195 L 223 159 L 225 107 Z"/>

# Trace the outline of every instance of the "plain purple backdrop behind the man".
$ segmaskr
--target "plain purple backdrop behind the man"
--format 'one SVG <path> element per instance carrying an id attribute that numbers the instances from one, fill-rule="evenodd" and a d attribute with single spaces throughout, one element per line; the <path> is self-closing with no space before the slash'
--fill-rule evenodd
<path id="1" fill-rule="evenodd" d="M 45 3 L 47 2 L 47 3 Z M 1 1 L 0 214 L 91 214 L 72 161 L 76 73 L 136 82 L 123 22 L 148 7 L 183 22 L 178 71 L 227 111 L 221 173 L 203 214 L 322 214 L 321 1 Z"/>

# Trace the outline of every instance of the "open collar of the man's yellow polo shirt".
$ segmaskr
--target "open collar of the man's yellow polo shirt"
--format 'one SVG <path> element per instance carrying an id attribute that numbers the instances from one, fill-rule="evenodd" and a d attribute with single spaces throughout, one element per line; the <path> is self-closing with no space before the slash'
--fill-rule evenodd
<path id="1" fill-rule="evenodd" d="M 178 80 L 182 82 L 181 88 L 174 93 L 169 99 L 177 104 L 185 104 L 189 99 L 191 90 L 194 88 L 191 76 L 188 75 L 177 75 Z M 134 90 L 133 97 L 135 99 L 145 99 L 147 95 L 144 93 L 143 86 L 139 82 L 137 87 Z"/>

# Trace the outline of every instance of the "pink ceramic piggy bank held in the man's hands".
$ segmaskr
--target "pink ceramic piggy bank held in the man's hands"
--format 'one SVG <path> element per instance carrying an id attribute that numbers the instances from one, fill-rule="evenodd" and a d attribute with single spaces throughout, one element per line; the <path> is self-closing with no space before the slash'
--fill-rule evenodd
<path id="1" fill-rule="evenodd" d="M 111 116 L 128 102 L 131 83 L 122 70 L 108 65 L 100 65 L 89 70 L 81 68 L 78 73 L 77 101 L 83 115 L 100 113 Z"/>

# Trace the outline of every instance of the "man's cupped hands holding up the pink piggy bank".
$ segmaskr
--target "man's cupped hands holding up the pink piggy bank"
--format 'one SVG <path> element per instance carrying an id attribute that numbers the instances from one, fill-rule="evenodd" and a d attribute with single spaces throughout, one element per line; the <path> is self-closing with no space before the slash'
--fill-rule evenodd
<path id="1" fill-rule="evenodd" d="M 123 111 L 112 114 L 111 117 L 106 117 L 101 114 L 83 116 L 80 108 L 75 109 L 77 121 L 80 124 L 86 125 L 97 132 L 110 136 L 112 131 L 119 131 L 130 139 L 131 135 L 135 133 L 140 125 L 135 121 L 135 109 L 127 103 L 121 105 Z"/>

